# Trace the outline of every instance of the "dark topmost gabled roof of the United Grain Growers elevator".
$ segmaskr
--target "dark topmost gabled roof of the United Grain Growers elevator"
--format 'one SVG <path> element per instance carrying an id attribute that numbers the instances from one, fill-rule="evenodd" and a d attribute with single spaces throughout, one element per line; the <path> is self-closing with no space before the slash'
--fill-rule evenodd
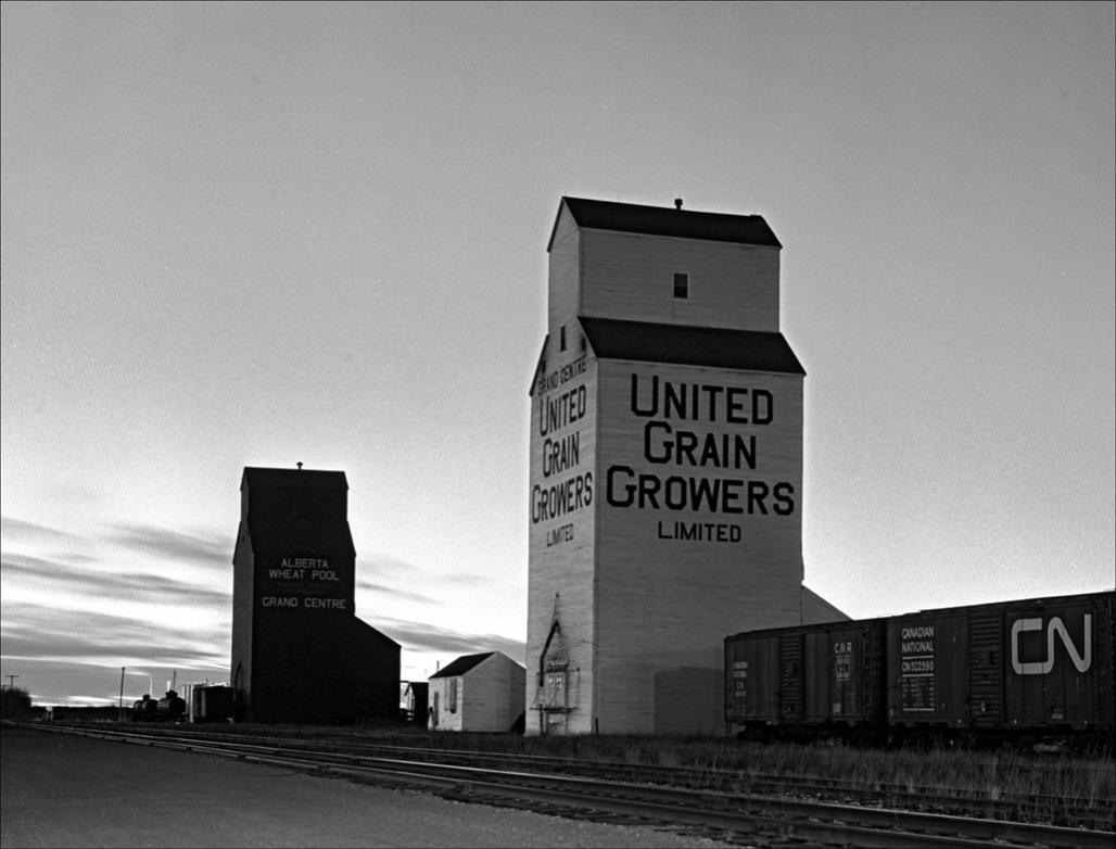
<path id="1" fill-rule="evenodd" d="M 781 248 L 779 240 L 762 215 L 731 215 L 722 212 L 691 212 L 666 206 L 643 206 L 635 203 L 591 201 L 585 197 L 562 197 L 550 229 L 547 253 L 554 244 L 562 205 L 578 226 L 593 230 L 616 230 L 625 233 L 673 235 L 680 239 L 708 239 L 714 242 L 739 242 Z"/>

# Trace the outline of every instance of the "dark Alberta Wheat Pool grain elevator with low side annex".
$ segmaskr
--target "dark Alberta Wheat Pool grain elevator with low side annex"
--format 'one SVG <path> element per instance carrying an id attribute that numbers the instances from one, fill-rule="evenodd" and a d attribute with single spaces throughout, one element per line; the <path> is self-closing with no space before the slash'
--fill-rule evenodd
<path id="1" fill-rule="evenodd" d="M 233 553 L 237 718 L 396 717 L 400 644 L 356 617 L 344 472 L 246 467 Z"/>

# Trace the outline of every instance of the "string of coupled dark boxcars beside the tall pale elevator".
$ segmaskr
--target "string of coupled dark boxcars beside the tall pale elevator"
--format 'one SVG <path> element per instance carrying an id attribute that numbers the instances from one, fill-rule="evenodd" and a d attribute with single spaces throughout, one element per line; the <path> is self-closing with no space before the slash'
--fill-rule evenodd
<path id="1" fill-rule="evenodd" d="M 745 631 L 725 721 L 753 739 L 1071 741 L 1112 750 L 1114 592 Z"/>

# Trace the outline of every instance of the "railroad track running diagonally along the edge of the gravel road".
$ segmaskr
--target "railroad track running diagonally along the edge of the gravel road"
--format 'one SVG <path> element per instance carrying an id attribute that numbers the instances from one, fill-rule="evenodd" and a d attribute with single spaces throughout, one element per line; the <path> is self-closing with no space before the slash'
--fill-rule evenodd
<path id="1" fill-rule="evenodd" d="M 946 816 L 857 804 L 667 787 L 528 769 L 440 763 L 368 754 L 357 746 L 318 741 L 242 742 L 229 735 L 153 733 L 103 727 L 23 724 L 48 733 L 73 733 L 124 743 L 161 746 L 318 775 L 433 791 L 454 799 L 529 808 L 567 817 L 625 820 L 700 829 L 705 836 L 749 846 L 788 841 L 806 846 L 1019 847 L 1112 849 L 1116 833 L 995 819 Z M 518 759 L 518 764 L 530 764 Z"/>

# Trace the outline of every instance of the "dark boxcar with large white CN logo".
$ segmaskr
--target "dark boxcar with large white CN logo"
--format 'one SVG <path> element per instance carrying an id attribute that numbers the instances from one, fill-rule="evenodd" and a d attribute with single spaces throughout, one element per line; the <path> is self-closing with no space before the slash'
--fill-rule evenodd
<path id="1" fill-rule="evenodd" d="M 1112 733 L 1113 592 L 888 620 L 888 716 L 898 730 Z"/>

